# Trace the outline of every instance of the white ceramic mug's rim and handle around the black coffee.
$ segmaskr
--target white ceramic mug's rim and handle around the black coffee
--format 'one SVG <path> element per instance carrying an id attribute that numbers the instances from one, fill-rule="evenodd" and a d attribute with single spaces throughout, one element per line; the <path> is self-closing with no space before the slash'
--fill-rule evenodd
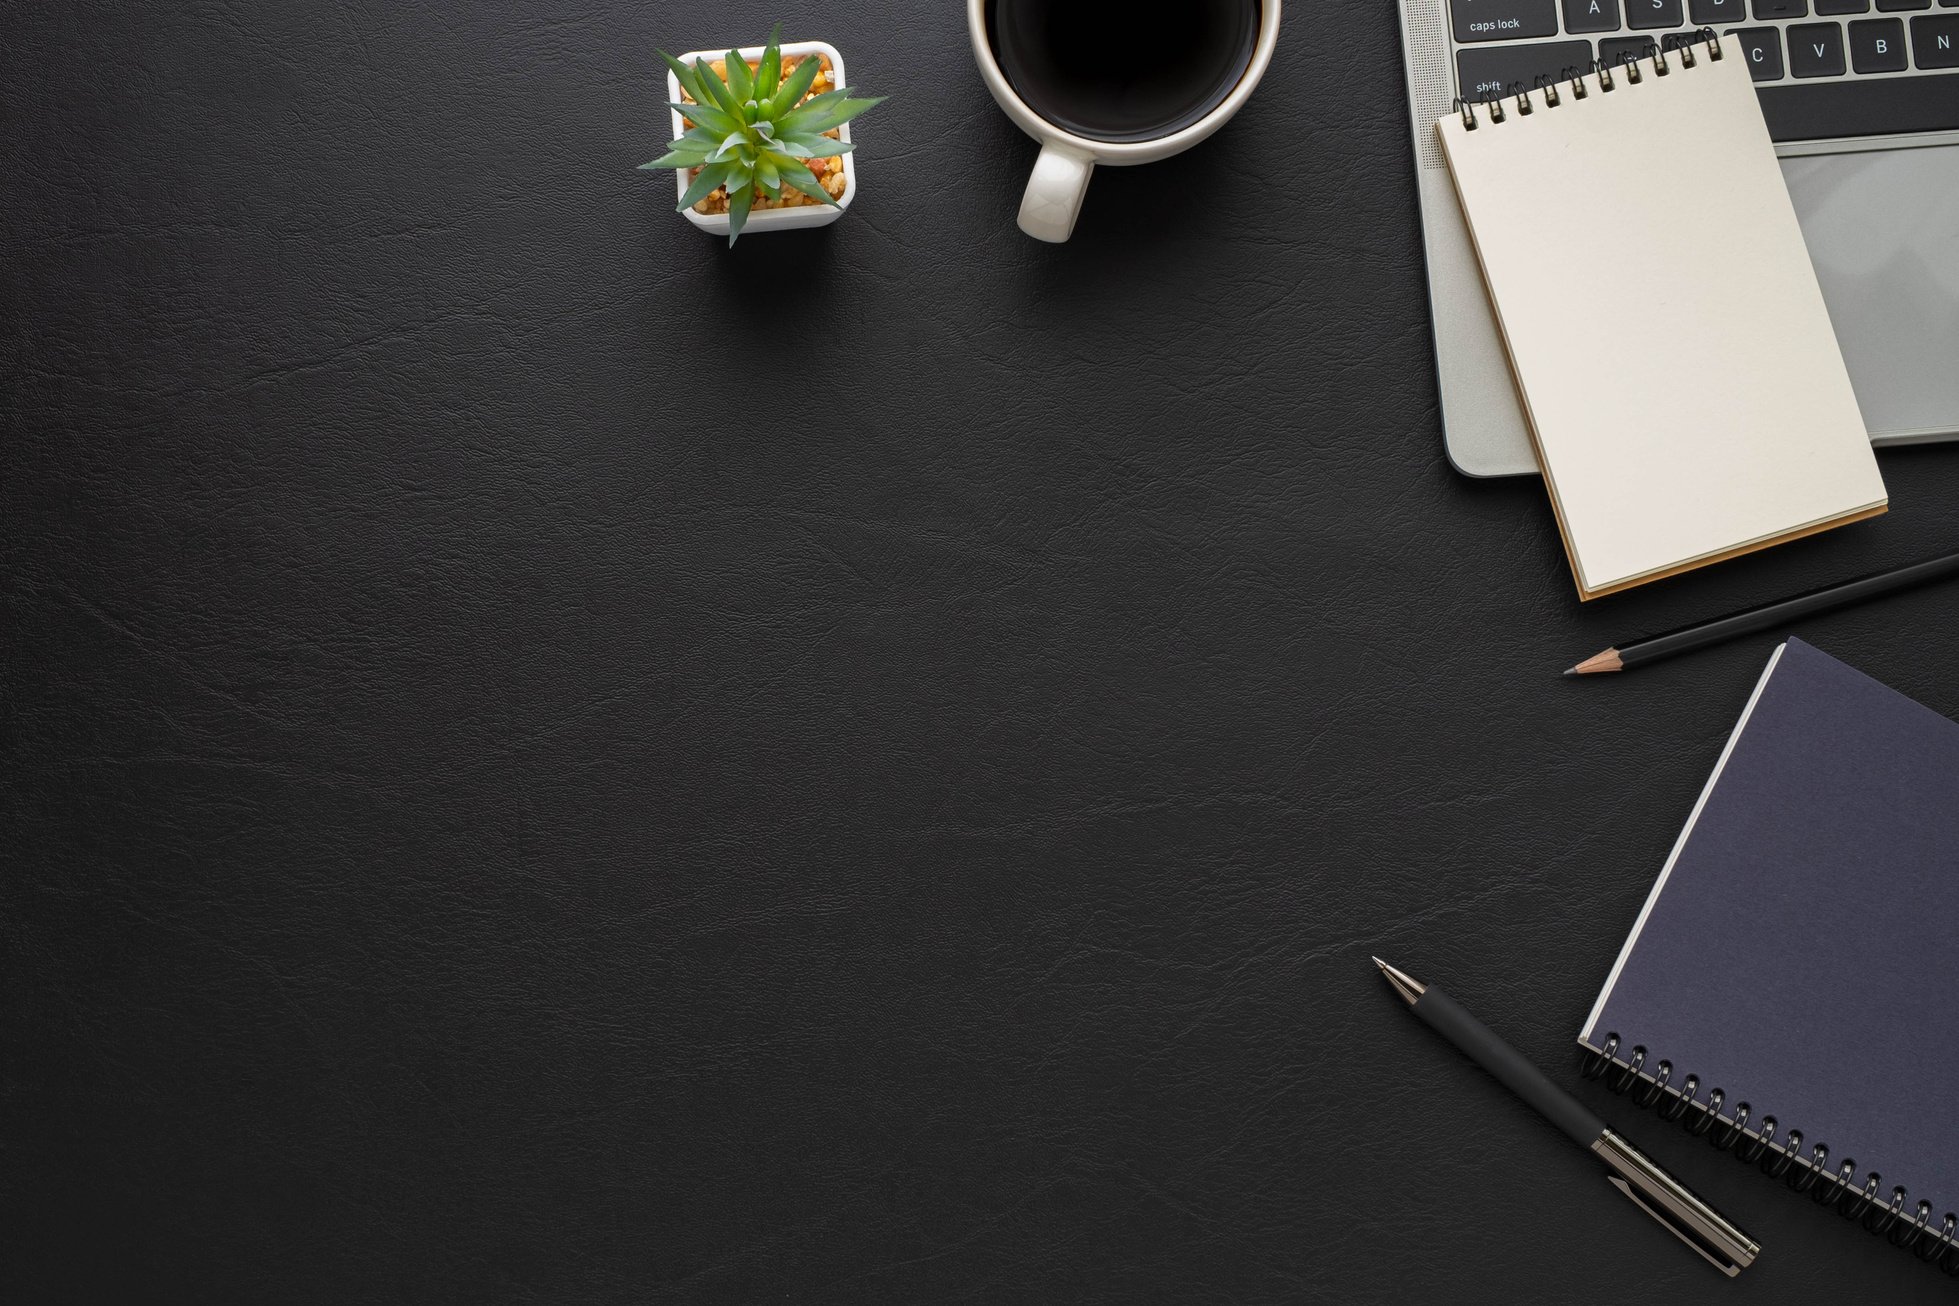
<path id="1" fill-rule="evenodd" d="M 985 37 L 987 0 L 966 0 L 966 29 L 972 35 L 974 59 L 980 61 L 980 76 L 985 88 L 999 100 L 1021 131 L 1040 141 L 1040 159 L 1034 161 L 1034 174 L 1027 178 L 1027 194 L 1021 196 L 1021 231 L 1036 241 L 1066 241 L 1075 229 L 1081 213 L 1081 196 L 1089 188 L 1089 172 L 1097 163 L 1124 166 L 1132 163 L 1156 163 L 1187 151 L 1207 135 L 1230 121 L 1258 78 L 1266 76 L 1271 63 L 1271 49 L 1279 43 L 1279 0 L 1262 0 L 1258 16 L 1258 43 L 1252 47 L 1252 63 L 1244 76 L 1230 88 L 1230 94 L 1189 127 L 1156 137 L 1154 141 L 1091 141 L 1064 127 L 1056 127 L 1007 84 L 993 47 Z"/>

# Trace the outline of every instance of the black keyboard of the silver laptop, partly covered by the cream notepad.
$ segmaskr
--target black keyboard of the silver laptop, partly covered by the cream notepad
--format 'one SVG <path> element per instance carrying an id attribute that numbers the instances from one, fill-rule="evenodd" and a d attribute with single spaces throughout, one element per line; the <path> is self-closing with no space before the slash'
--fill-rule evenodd
<path id="1" fill-rule="evenodd" d="M 1465 100 L 1677 49 L 1742 41 L 1777 141 L 1959 129 L 1959 0 L 1450 0 Z"/>

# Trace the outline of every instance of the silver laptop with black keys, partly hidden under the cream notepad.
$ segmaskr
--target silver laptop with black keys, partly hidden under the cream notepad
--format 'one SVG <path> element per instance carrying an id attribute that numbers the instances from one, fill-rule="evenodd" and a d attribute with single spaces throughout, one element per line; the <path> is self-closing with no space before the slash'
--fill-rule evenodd
<path id="1" fill-rule="evenodd" d="M 1959 0 L 1399 0 L 1428 300 L 1450 462 L 1538 470 L 1434 123 L 1540 76 L 1740 35 L 1871 441 L 1959 439 Z M 1653 186 L 1667 178 L 1653 176 Z M 1747 231 L 1708 231 L 1742 243 Z M 1571 329 L 1612 349 L 1612 302 L 1648 294 L 1571 268 Z M 1740 339 L 1736 350 L 1773 350 Z M 1708 358 L 1718 370 L 1720 358 Z M 1624 399 L 1665 396 L 1628 378 Z M 1599 396 L 1601 403 L 1614 396 Z"/>

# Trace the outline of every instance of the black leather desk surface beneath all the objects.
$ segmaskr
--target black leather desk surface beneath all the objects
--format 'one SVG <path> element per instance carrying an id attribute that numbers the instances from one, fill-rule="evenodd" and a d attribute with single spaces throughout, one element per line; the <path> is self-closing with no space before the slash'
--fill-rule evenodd
<path id="1" fill-rule="evenodd" d="M 950 4 L 10 8 L 10 1300 L 1951 1300 L 1579 1081 L 1771 640 L 1557 670 L 1951 548 L 1959 450 L 1581 609 L 1442 454 L 1393 6 L 1062 249 Z M 729 253 L 654 49 L 778 12 L 893 100 Z M 1800 632 L 1959 713 L 1955 607 Z"/>

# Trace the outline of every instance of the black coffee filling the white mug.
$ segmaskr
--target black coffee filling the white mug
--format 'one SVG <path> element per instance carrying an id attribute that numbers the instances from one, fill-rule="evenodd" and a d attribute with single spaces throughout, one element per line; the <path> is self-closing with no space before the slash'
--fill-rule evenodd
<path id="1" fill-rule="evenodd" d="M 987 41 L 1044 119 L 1154 141 L 1215 110 L 1252 65 L 1260 0 L 989 0 Z"/>

